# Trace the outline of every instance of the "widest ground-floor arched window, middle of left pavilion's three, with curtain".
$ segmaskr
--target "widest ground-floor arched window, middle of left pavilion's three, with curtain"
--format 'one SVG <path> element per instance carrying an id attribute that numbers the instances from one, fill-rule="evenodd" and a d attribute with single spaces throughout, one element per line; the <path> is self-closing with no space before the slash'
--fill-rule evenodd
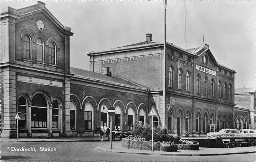
<path id="1" fill-rule="evenodd" d="M 31 105 L 31 128 L 47 128 L 47 102 L 43 94 L 36 94 Z"/>

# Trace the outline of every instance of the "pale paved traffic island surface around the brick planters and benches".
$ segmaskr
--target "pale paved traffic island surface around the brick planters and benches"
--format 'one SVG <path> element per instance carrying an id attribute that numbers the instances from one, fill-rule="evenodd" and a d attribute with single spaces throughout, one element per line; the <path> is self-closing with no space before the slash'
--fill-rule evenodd
<path id="1" fill-rule="evenodd" d="M 248 154 L 256 152 L 256 147 L 235 147 L 235 148 L 208 148 L 200 147 L 199 150 L 178 150 L 177 152 L 161 152 L 148 151 L 137 149 L 126 149 L 121 146 L 121 142 L 113 142 L 112 149 L 110 149 L 110 142 L 103 143 L 102 146 L 96 147 L 100 151 L 118 152 L 128 154 L 143 154 L 143 155 L 165 155 L 165 156 L 216 156 L 228 154 Z"/>

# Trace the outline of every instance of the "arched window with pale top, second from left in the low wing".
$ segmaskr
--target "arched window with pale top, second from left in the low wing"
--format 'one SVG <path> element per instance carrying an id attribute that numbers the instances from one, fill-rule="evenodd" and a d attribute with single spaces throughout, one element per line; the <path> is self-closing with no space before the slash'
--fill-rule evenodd
<path id="1" fill-rule="evenodd" d="M 90 102 L 84 105 L 84 129 L 92 130 L 92 113 L 94 108 Z"/>

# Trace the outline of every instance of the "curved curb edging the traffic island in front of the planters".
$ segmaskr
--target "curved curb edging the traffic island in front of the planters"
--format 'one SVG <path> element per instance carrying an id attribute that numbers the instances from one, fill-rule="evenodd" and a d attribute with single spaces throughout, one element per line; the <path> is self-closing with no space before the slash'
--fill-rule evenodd
<path id="1" fill-rule="evenodd" d="M 231 155 L 231 154 L 250 154 L 255 153 L 256 151 L 246 151 L 246 152 L 230 152 L 230 153 L 217 153 L 217 154 L 165 154 L 165 153 L 151 153 L 151 152 L 127 152 L 127 151 L 117 151 L 110 149 L 102 149 L 100 146 L 96 147 L 97 150 L 105 152 L 116 152 L 116 153 L 125 153 L 125 154 L 139 154 L 139 155 L 157 155 L 157 156 L 219 156 L 219 155 Z"/>

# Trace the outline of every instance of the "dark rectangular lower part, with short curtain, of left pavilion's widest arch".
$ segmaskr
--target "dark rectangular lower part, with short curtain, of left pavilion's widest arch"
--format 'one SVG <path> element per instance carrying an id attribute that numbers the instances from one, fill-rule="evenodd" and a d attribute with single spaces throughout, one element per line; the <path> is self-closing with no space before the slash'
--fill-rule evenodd
<path id="1" fill-rule="evenodd" d="M 47 128 L 47 109 L 31 107 L 31 128 Z"/>

